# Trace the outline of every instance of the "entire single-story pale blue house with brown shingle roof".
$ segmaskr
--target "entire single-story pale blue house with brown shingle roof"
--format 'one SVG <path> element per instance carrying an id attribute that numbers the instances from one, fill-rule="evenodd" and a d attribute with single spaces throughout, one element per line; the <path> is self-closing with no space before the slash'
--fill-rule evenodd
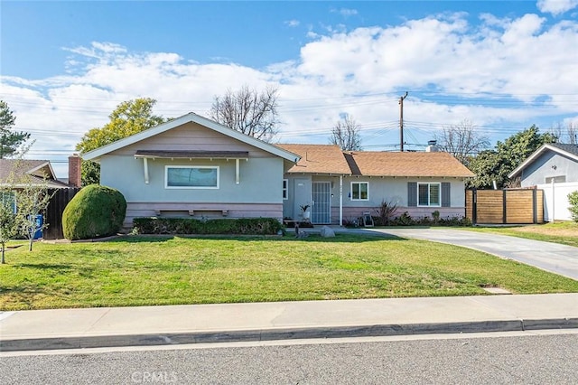
<path id="1" fill-rule="evenodd" d="M 342 152 L 338 146 L 272 145 L 189 113 L 82 157 L 135 217 L 272 217 L 343 223 L 385 200 L 411 215 L 464 215 L 471 172 L 445 153 Z"/>

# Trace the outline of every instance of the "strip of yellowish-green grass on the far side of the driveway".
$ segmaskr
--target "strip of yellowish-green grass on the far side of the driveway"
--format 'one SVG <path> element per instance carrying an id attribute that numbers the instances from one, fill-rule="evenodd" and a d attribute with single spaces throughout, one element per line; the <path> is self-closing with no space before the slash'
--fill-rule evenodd
<path id="1" fill-rule="evenodd" d="M 573 221 L 557 221 L 545 224 L 513 227 L 473 227 L 464 228 L 464 230 L 544 240 L 545 242 L 554 242 L 578 247 L 578 223 Z"/>

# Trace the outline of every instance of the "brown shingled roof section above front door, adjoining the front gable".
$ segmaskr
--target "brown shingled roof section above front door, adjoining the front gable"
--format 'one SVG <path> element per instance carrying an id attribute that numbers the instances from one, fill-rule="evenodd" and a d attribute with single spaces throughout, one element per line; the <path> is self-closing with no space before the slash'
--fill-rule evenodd
<path id="1" fill-rule="evenodd" d="M 351 174 L 339 146 L 334 145 L 276 145 L 301 156 L 288 173 Z"/>

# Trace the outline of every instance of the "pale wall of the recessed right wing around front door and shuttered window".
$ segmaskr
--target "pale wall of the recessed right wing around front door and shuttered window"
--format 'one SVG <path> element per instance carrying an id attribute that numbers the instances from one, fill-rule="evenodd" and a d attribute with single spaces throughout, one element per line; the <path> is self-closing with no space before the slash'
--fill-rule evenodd
<path id="1" fill-rule="evenodd" d="M 340 221 L 340 177 L 323 176 L 323 175 L 285 175 L 290 185 L 294 185 L 299 179 L 308 183 L 309 189 L 303 189 L 303 193 L 292 198 L 290 190 L 289 200 L 284 201 L 284 217 L 299 219 L 299 205 L 307 202 L 311 204 L 311 184 L 312 182 L 330 182 L 331 183 L 331 223 L 336 224 Z M 368 200 L 352 201 L 351 183 L 368 182 Z M 450 207 L 408 207 L 407 203 L 407 183 L 451 183 Z M 306 194 L 309 194 L 308 196 Z M 296 195 L 294 193 L 294 195 Z M 298 200 L 299 202 L 295 202 Z M 442 218 L 460 217 L 465 215 L 465 185 L 463 180 L 458 178 L 394 178 L 394 177 L 343 177 L 343 220 L 355 220 L 363 214 L 364 211 L 370 211 L 372 215 L 382 201 L 396 203 L 398 206 L 397 215 L 407 211 L 412 217 L 431 216 L 433 211 L 440 211 Z"/>

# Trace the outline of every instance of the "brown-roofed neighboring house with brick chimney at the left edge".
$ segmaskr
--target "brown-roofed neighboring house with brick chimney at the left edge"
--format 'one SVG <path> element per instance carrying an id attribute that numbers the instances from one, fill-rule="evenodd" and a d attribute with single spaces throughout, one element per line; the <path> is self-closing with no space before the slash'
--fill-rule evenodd
<path id="1" fill-rule="evenodd" d="M 49 189 L 79 187 L 80 158 L 78 155 L 69 157 L 69 179 L 66 181 L 56 178 L 51 162 L 48 160 L 0 159 L 0 187 L 14 188 L 13 192 L 3 192 L 0 198 L 3 201 L 9 201 L 14 207 L 14 212 L 17 192 L 23 188 L 23 183 L 38 185 L 46 183 Z"/>

